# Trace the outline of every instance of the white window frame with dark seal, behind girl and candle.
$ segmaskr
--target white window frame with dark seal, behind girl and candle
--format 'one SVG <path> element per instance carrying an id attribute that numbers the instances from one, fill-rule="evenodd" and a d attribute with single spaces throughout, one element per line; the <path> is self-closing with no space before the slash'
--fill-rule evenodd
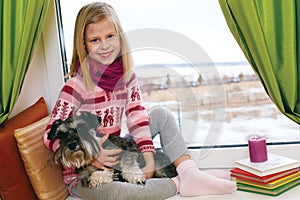
<path id="1" fill-rule="evenodd" d="M 60 0 L 55 0 L 55 5 L 58 24 L 57 28 L 59 32 L 59 45 L 61 49 L 60 53 L 63 62 L 62 70 L 64 75 L 67 75 L 68 65 Z M 299 159 L 298 149 L 300 149 L 300 141 L 267 143 L 268 153 L 276 153 L 294 159 Z M 234 167 L 234 163 L 236 160 L 248 157 L 248 144 L 192 146 L 188 147 L 188 152 L 191 155 L 191 157 L 195 160 L 197 165 L 202 169 L 231 169 Z"/>

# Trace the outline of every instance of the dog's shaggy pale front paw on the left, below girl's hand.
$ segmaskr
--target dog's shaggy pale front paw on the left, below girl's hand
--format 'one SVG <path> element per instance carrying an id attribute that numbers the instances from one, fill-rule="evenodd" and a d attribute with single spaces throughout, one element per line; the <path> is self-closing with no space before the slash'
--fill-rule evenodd
<path id="1" fill-rule="evenodd" d="M 89 187 L 99 188 L 101 185 L 113 181 L 113 172 L 110 170 L 95 171 L 90 176 Z"/>

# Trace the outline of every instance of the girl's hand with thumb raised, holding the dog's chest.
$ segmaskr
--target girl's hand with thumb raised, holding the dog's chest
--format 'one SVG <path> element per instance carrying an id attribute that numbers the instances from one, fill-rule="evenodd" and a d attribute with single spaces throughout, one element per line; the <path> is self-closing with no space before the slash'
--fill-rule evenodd
<path id="1" fill-rule="evenodd" d="M 102 167 L 104 166 L 113 168 L 116 164 L 119 163 L 119 154 L 122 152 L 122 149 L 108 150 L 102 147 L 103 143 L 108 139 L 108 136 L 109 135 L 104 135 L 101 138 L 99 144 L 100 152 L 96 157 L 96 160 L 92 162 L 92 165 L 100 169 L 102 169 Z"/>

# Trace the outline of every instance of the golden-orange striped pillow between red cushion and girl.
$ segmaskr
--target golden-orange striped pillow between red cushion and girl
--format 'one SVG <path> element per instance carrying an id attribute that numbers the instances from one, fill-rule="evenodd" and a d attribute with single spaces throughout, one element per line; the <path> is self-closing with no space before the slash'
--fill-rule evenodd
<path id="1" fill-rule="evenodd" d="M 43 141 L 49 116 L 15 130 L 15 138 L 27 175 L 39 200 L 62 200 L 69 192 L 63 182 L 62 168 L 53 161 L 53 152 Z"/>

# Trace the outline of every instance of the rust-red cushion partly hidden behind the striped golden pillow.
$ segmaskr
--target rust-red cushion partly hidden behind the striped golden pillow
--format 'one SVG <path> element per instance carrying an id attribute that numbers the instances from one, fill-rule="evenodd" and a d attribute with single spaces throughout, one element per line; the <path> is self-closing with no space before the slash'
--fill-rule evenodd
<path id="1" fill-rule="evenodd" d="M 32 124 L 48 115 L 41 97 L 0 127 L 0 196 L 1 200 L 37 199 L 18 151 L 14 130 Z"/>

